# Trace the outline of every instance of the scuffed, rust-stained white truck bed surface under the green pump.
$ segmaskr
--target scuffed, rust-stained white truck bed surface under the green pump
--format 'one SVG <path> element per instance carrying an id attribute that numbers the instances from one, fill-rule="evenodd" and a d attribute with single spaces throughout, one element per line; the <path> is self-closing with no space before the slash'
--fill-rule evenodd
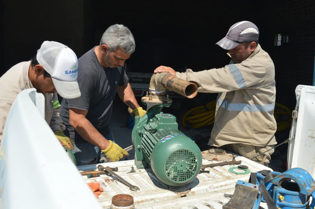
<path id="1" fill-rule="evenodd" d="M 247 165 L 251 172 L 268 169 L 263 165 L 255 163 L 245 157 L 238 156 L 236 160 L 242 160 L 242 165 Z M 216 161 L 212 161 L 216 162 Z M 203 164 L 212 163 L 204 160 Z M 109 208 L 112 196 L 117 194 L 129 194 L 134 197 L 135 207 L 153 209 L 153 208 L 222 208 L 230 198 L 225 198 L 224 194 L 233 194 L 235 183 L 238 180 L 248 181 L 249 175 L 237 175 L 230 173 L 229 168 L 232 165 L 217 166 L 215 168 L 206 168 L 209 173 L 200 173 L 191 183 L 180 187 L 167 186 L 160 182 L 151 169 L 137 169 L 134 160 L 110 162 L 101 164 L 103 166 L 118 167 L 118 175 L 126 179 L 129 183 L 138 186 L 140 191 L 132 191 L 117 180 L 115 177 L 101 175 L 100 177 L 87 179 L 87 183 L 99 182 L 104 192 L 99 196 L 99 202 L 103 208 Z M 128 173 L 131 167 L 134 167 L 135 173 Z M 237 165 L 236 165 L 237 166 Z M 80 170 L 95 169 L 94 166 L 80 166 Z M 263 208 L 267 208 L 265 203 L 261 203 Z"/>

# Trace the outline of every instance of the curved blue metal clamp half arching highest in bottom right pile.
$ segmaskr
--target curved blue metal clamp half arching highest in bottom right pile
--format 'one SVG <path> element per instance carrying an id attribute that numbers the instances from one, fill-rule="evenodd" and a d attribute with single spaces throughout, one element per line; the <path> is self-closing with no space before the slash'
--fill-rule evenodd
<path id="1" fill-rule="evenodd" d="M 272 184 L 280 186 L 281 181 L 284 179 L 291 179 L 295 181 L 299 187 L 299 193 L 302 195 L 310 196 L 315 190 L 315 181 L 312 176 L 302 168 L 291 168 L 271 180 Z M 278 198 L 277 198 L 278 199 Z"/>

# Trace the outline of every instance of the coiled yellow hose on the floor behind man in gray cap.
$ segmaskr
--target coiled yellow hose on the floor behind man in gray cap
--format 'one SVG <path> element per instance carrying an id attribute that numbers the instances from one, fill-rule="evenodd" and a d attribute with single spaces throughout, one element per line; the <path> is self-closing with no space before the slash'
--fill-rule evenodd
<path id="1" fill-rule="evenodd" d="M 198 129 L 203 126 L 208 126 L 214 124 L 215 122 L 215 100 L 207 103 L 205 106 L 198 106 L 188 110 L 183 119 L 183 126 L 186 127 L 187 124 L 190 125 L 192 129 Z M 277 121 L 277 131 L 282 131 L 290 128 L 291 126 L 291 114 L 292 111 L 276 102 L 274 109 L 274 117 Z M 284 115 L 279 117 L 280 115 Z M 281 121 L 278 121 L 280 120 Z"/>

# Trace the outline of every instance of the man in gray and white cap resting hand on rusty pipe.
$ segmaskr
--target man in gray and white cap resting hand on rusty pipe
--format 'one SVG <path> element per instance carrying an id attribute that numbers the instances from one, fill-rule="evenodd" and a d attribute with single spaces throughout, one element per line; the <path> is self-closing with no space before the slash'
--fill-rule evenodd
<path id="1" fill-rule="evenodd" d="M 208 145 L 233 151 L 247 158 L 277 144 L 273 116 L 276 87 L 272 59 L 258 44 L 259 30 L 249 21 L 232 25 L 216 44 L 228 50 L 230 64 L 219 69 L 185 73 L 160 66 L 154 73 L 168 72 L 198 85 L 199 92 L 219 93 L 215 124 Z M 253 160 L 270 162 L 273 149 Z"/>

